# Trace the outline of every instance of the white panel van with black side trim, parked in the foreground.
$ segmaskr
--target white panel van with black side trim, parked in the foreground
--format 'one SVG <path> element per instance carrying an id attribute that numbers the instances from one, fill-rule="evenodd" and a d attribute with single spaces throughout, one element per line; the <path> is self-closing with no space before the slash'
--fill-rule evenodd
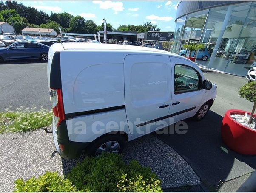
<path id="1" fill-rule="evenodd" d="M 56 43 L 48 53 L 53 137 L 64 158 L 120 153 L 188 117 L 202 119 L 216 85 L 185 57 L 130 45 Z"/>

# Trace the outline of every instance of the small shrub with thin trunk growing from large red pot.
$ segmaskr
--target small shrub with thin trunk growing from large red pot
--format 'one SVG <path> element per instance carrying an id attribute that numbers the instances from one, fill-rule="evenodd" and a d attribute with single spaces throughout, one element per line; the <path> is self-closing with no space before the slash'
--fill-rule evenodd
<path id="1" fill-rule="evenodd" d="M 248 101 L 251 101 L 253 104 L 253 110 L 250 114 L 249 123 L 253 118 L 253 113 L 255 112 L 256 108 L 256 81 L 251 81 L 240 87 L 239 94 L 241 98 L 245 98 Z"/>

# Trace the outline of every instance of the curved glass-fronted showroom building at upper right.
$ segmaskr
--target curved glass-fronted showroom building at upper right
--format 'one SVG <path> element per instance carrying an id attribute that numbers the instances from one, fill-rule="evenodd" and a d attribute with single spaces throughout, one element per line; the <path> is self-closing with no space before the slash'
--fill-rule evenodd
<path id="1" fill-rule="evenodd" d="M 256 61 L 254 1 L 181 1 L 175 22 L 171 52 L 179 54 L 188 42 L 202 43 L 211 54 L 203 61 L 207 53 L 194 53 L 199 66 L 245 76 Z"/>

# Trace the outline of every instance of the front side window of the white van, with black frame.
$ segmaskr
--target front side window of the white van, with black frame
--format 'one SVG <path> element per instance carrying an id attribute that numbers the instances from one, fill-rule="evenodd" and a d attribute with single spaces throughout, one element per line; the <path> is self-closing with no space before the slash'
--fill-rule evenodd
<path id="1" fill-rule="evenodd" d="M 199 90 L 199 73 L 191 67 L 176 64 L 174 67 L 174 94 Z"/>

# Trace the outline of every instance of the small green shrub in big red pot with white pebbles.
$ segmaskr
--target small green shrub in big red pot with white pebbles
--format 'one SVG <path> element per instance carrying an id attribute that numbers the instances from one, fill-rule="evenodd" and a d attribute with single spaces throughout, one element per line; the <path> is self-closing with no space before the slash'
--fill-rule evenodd
<path id="1" fill-rule="evenodd" d="M 253 103 L 251 112 L 231 109 L 222 120 L 222 140 L 230 149 L 240 154 L 256 155 L 256 81 L 243 85 L 239 94 Z M 249 115 L 249 116 L 248 116 Z"/>

